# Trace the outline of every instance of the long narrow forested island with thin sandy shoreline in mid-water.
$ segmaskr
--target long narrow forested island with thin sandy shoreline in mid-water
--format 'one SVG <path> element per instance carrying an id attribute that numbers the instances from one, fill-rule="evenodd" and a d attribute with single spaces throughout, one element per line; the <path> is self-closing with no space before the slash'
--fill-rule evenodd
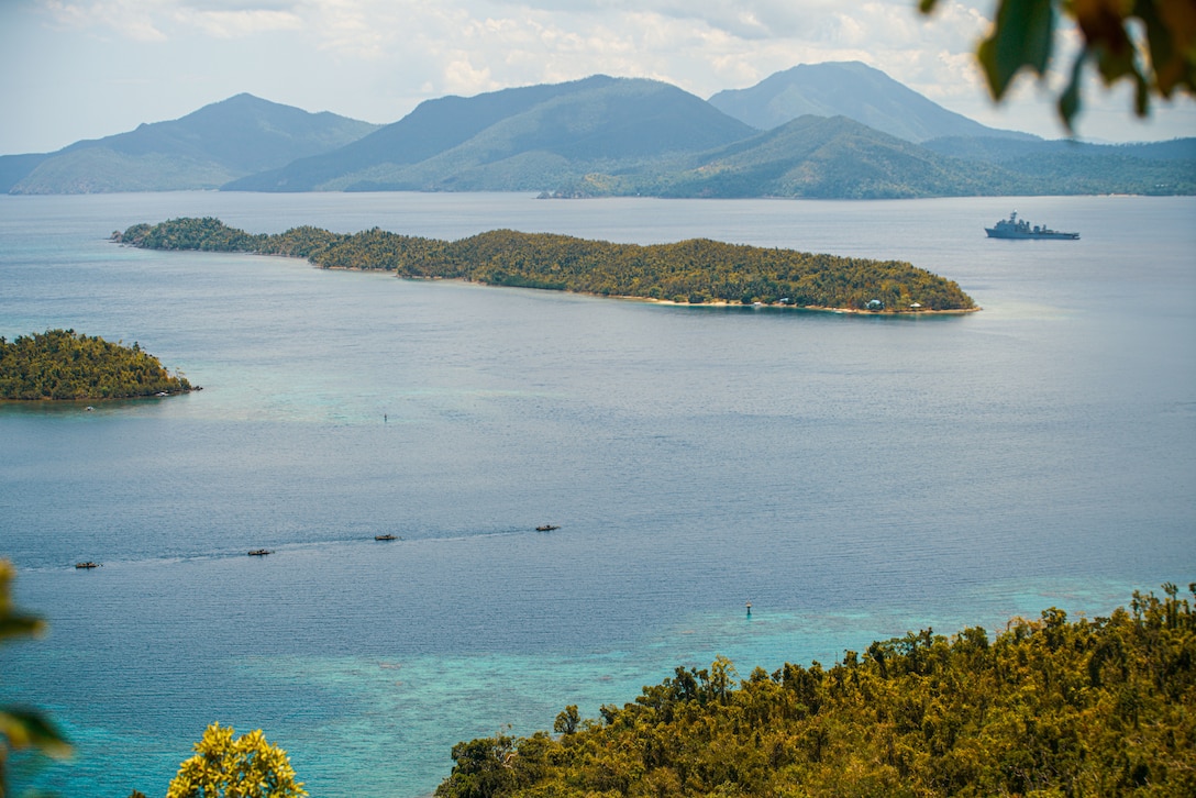
<path id="1" fill-rule="evenodd" d="M 642 246 L 494 230 L 447 242 L 377 227 L 334 233 L 310 226 L 255 234 L 208 217 L 139 224 L 112 233 L 112 240 L 146 249 L 286 255 L 329 269 L 379 269 L 402 278 L 684 304 L 758 303 L 886 313 L 977 310 L 954 281 L 904 261 L 709 239 Z"/>

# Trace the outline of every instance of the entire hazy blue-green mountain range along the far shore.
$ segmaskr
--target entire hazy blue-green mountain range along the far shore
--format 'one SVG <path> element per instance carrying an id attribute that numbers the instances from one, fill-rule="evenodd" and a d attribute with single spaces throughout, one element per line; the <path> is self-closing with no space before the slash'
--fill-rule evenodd
<path id="1" fill-rule="evenodd" d="M 948 111 L 859 62 L 709 100 L 593 75 L 421 103 L 386 126 L 238 95 L 55 153 L 0 157 L 0 190 L 69 194 L 517 190 L 544 196 L 1196 194 L 1196 139 L 1045 141 Z"/>

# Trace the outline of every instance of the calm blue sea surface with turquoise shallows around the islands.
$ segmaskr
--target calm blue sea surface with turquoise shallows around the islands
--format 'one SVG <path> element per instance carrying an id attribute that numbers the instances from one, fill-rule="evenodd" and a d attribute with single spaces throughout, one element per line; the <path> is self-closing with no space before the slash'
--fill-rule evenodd
<path id="1" fill-rule="evenodd" d="M 1013 208 L 1082 238 L 984 238 Z M 902 258 L 984 310 L 677 307 L 105 240 L 177 215 Z M 1143 197 L 0 196 L 0 335 L 138 341 L 205 388 L 0 407 L 0 555 L 51 623 L 0 654 L 0 703 L 77 745 L 18 757 L 13 786 L 161 794 L 219 720 L 263 729 L 312 796 L 414 798 L 454 742 L 597 717 L 676 665 L 831 663 L 1186 585 L 1192 219 Z"/>

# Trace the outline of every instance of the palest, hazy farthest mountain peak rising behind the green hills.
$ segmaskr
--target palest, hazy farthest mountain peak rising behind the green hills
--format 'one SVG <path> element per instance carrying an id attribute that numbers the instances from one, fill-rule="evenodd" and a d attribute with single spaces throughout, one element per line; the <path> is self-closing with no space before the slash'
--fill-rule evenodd
<path id="1" fill-rule="evenodd" d="M 997 130 L 948 111 L 884 72 L 859 61 L 803 63 L 750 89 L 730 89 L 710 104 L 762 130 L 799 116 L 846 116 L 905 141 L 940 136 L 1002 136 L 1036 140 L 1029 133 Z"/>

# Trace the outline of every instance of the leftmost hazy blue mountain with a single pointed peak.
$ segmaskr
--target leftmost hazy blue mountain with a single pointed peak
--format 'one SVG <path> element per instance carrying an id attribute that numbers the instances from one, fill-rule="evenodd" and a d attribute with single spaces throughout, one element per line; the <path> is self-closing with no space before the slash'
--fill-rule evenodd
<path id="1" fill-rule="evenodd" d="M 218 188 L 341 147 L 377 128 L 237 95 L 182 118 L 79 141 L 44 156 L 0 158 L 0 190 L 91 194 Z"/>

